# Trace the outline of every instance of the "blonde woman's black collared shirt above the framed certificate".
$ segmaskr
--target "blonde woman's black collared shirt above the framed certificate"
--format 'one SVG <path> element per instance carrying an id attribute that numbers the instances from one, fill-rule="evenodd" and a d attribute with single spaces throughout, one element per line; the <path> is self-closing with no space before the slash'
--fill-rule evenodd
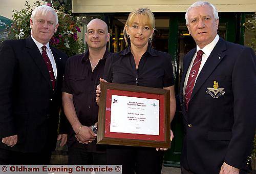
<path id="1" fill-rule="evenodd" d="M 172 60 L 168 53 L 154 50 L 149 45 L 136 70 L 129 47 L 106 60 L 104 79 L 113 83 L 166 88 L 174 85 Z"/>

